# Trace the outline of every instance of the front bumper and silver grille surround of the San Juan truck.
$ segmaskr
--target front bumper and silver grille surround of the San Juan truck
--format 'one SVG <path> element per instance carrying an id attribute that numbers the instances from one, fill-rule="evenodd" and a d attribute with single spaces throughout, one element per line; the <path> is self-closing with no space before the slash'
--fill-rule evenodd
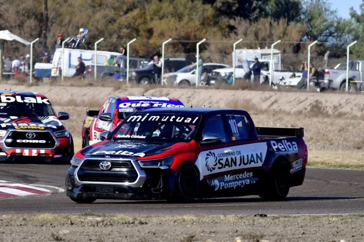
<path id="1" fill-rule="evenodd" d="M 123 160 L 123 159 L 117 159 Z M 123 199 L 123 200 L 151 200 L 165 199 L 174 193 L 175 173 L 171 169 L 160 168 L 141 168 L 136 159 L 132 160 L 133 167 L 137 172 L 137 178 L 133 182 L 102 182 L 80 181 L 79 176 L 84 171 L 79 170 L 80 166 L 71 166 L 66 175 L 66 195 L 71 198 L 94 198 L 94 199 Z M 113 177 L 135 178 L 135 171 L 92 171 L 93 177 L 100 174 L 107 176 L 112 174 Z"/>

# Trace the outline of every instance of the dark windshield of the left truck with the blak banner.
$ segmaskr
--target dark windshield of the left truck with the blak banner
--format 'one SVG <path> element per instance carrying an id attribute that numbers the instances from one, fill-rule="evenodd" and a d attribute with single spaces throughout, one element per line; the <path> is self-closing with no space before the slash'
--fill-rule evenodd
<path id="1" fill-rule="evenodd" d="M 50 104 L 16 101 L 0 103 L 1 117 L 44 117 L 54 115 L 54 110 Z"/>

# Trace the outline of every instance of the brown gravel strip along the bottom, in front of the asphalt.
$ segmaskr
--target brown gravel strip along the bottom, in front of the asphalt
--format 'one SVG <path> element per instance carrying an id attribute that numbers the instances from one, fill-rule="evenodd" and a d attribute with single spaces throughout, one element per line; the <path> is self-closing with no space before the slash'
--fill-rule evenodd
<path id="1" fill-rule="evenodd" d="M 359 242 L 364 215 L 2 215 L 0 242 Z"/>

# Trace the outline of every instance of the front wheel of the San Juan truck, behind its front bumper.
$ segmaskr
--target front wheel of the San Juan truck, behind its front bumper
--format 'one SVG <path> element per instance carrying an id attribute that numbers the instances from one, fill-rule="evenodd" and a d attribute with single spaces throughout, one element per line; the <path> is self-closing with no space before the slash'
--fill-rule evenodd
<path id="1" fill-rule="evenodd" d="M 176 172 L 175 181 L 172 200 L 188 202 L 197 196 L 199 190 L 199 174 L 192 164 L 182 164 Z"/>

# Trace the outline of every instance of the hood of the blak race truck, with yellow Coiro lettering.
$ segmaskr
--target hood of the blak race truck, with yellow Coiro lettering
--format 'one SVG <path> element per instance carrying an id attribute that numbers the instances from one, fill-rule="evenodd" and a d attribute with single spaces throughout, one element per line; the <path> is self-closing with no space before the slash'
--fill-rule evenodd
<path id="1" fill-rule="evenodd" d="M 0 130 L 7 129 L 39 129 L 39 130 L 51 130 L 60 131 L 65 129 L 62 122 L 58 120 L 56 116 L 44 116 L 44 117 L 0 117 Z"/>

